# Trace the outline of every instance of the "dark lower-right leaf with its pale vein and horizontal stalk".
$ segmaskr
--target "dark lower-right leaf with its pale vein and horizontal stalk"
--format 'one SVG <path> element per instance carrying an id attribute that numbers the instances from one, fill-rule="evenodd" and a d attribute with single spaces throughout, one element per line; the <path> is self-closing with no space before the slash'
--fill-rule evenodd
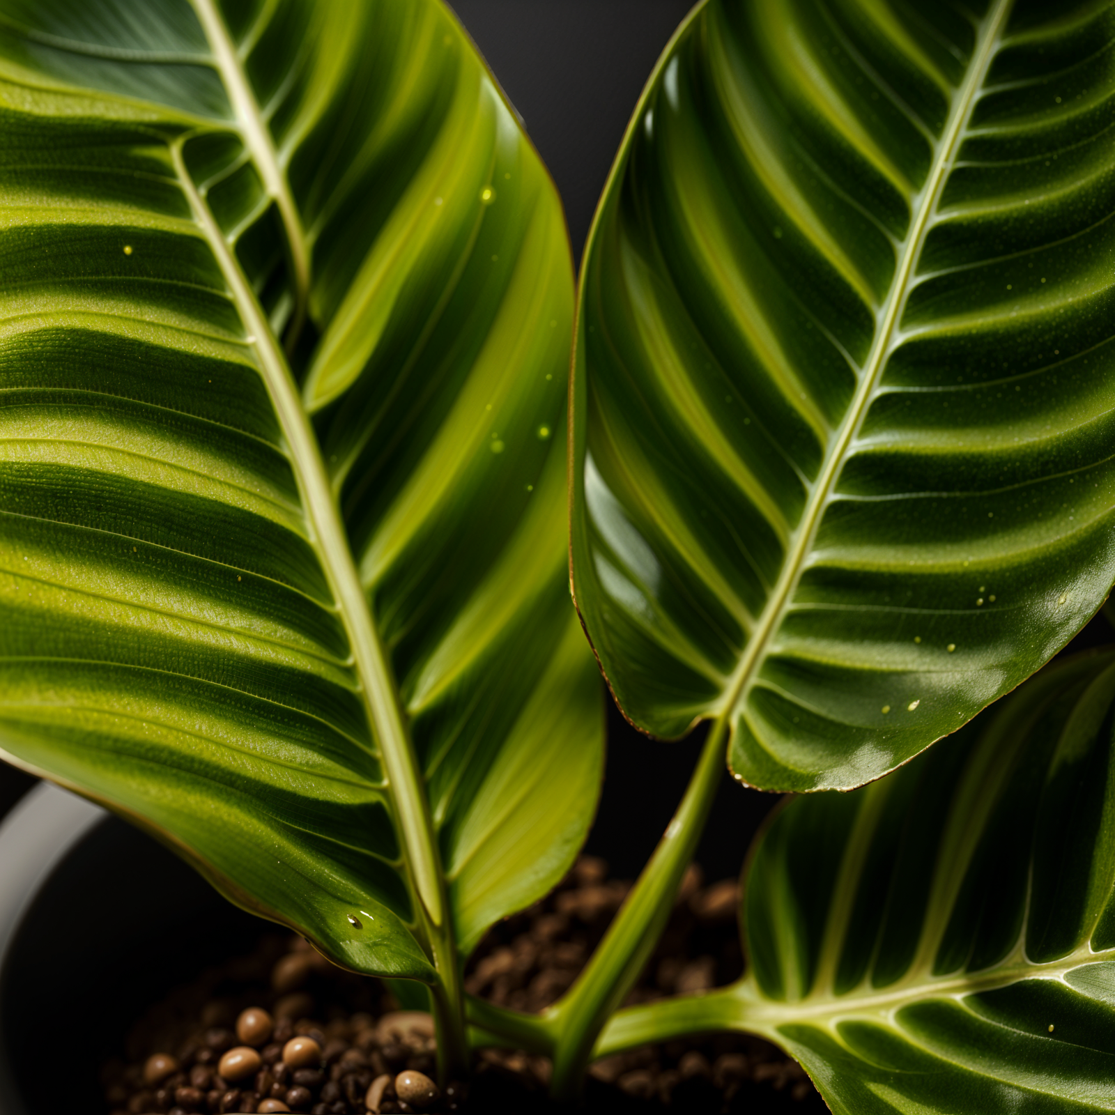
<path id="1" fill-rule="evenodd" d="M 1115 1111 L 1115 651 L 881 782 L 791 801 L 744 912 L 740 983 L 605 1043 L 758 1032 L 837 1115 Z"/>

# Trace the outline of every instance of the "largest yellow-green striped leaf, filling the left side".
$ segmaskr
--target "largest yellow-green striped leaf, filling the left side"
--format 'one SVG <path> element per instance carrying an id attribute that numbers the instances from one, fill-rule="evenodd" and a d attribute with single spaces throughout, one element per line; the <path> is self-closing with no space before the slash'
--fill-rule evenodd
<path id="1" fill-rule="evenodd" d="M 2 754 L 452 981 L 600 779 L 536 154 L 438 0 L 3 0 L 0 196 Z"/>

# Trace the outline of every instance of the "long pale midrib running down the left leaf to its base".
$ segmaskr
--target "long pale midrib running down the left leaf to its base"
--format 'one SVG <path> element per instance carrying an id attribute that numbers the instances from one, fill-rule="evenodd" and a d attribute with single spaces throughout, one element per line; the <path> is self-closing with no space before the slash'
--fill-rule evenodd
<path id="1" fill-rule="evenodd" d="M 375 729 L 387 779 L 396 799 L 396 816 L 417 896 L 429 921 L 435 927 L 440 927 L 445 920 L 440 870 L 436 861 L 433 825 L 421 777 L 415 765 L 387 656 L 371 622 L 317 439 L 263 311 L 216 220 L 190 177 L 181 142 L 172 148 L 172 156 L 194 219 L 205 234 L 244 324 L 254 337 L 252 346 L 259 358 L 264 386 L 287 438 L 292 471 L 313 534 L 311 542 L 349 639 L 368 719 Z"/>

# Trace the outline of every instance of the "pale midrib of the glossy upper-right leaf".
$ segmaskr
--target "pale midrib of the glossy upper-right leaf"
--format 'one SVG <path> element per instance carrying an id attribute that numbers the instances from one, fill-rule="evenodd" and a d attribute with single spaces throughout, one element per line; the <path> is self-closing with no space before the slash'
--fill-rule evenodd
<path id="1" fill-rule="evenodd" d="M 824 467 L 817 477 L 817 483 L 806 502 L 802 521 L 795 532 L 796 541 L 786 561 L 783 563 L 778 580 L 775 582 L 767 604 L 758 618 L 758 622 L 755 626 L 755 633 L 748 641 L 744 655 L 739 660 L 739 666 L 736 668 L 725 690 L 725 700 L 717 710 L 719 717 L 730 717 L 733 711 L 746 697 L 755 669 L 766 652 L 767 643 L 778 630 L 785 617 L 791 594 L 802 574 L 802 565 L 805 556 L 816 539 L 822 514 L 832 494 L 832 487 L 836 483 L 836 477 L 844 464 L 844 455 L 866 416 L 867 405 L 878 386 L 879 378 L 886 366 L 886 358 L 890 356 L 895 328 L 905 307 L 906 298 L 910 294 L 910 277 L 913 274 L 918 259 L 921 255 L 930 219 L 937 210 L 941 188 L 944 184 L 946 175 L 952 166 L 960 135 L 971 114 L 976 93 L 987 74 L 992 49 L 998 41 L 999 31 L 1012 2 L 1014 0 L 997 0 L 995 10 L 985 20 L 982 38 L 972 57 L 968 77 L 958 91 L 949 113 L 944 134 L 934 153 L 933 165 L 930 168 L 925 186 L 917 204 L 910 233 L 906 236 L 905 246 L 902 249 L 902 254 L 899 258 L 899 265 L 895 269 L 886 302 L 883 304 L 882 320 L 875 331 L 875 339 L 872 342 L 871 351 L 863 366 L 860 386 L 856 388 L 852 404 L 841 425 L 836 442 L 825 458 Z"/>

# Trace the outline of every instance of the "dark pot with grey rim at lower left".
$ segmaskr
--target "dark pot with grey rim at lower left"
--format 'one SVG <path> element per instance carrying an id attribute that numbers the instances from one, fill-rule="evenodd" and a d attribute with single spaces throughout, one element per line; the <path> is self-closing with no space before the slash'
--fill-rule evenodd
<path id="1" fill-rule="evenodd" d="M 138 830 L 33 789 L 0 825 L 0 1113 L 103 1111 L 132 1024 L 266 929 Z"/>

